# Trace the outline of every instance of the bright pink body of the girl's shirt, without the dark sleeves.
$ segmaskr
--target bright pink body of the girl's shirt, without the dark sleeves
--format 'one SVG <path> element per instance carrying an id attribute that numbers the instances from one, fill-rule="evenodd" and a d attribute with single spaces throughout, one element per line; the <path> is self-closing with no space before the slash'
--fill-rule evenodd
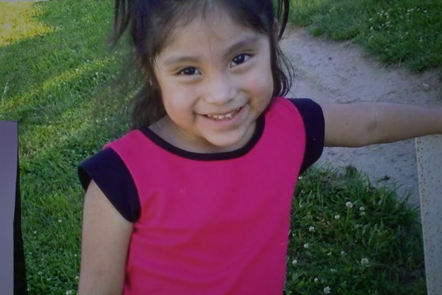
<path id="1" fill-rule="evenodd" d="M 282 98 L 260 122 L 246 147 L 228 153 L 185 152 L 148 130 L 107 145 L 130 172 L 140 206 L 125 295 L 283 293 L 305 129 Z"/>

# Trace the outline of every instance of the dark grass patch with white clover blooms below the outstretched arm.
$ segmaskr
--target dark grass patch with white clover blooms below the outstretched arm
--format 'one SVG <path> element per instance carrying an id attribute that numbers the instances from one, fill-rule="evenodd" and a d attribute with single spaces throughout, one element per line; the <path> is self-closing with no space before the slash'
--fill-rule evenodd
<path id="1" fill-rule="evenodd" d="M 293 202 L 286 294 L 425 294 L 417 217 L 354 168 L 310 169 Z"/>

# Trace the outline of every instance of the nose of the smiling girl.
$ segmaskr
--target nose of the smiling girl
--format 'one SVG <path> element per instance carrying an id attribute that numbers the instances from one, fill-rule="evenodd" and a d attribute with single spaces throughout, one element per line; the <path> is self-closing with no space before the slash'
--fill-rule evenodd
<path id="1" fill-rule="evenodd" d="M 205 100 L 210 104 L 223 105 L 235 98 L 235 86 L 229 77 L 217 75 L 207 80 Z"/>

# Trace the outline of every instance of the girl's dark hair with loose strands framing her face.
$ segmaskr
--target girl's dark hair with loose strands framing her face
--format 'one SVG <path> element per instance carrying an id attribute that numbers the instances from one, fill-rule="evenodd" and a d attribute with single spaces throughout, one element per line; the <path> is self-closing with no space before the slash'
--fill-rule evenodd
<path id="1" fill-rule="evenodd" d="M 287 24 L 289 0 L 277 0 L 276 14 L 272 0 L 115 0 L 114 45 L 130 27 L 134 57 L 145 79 L 131 102 L 132 128 L 150 125 L 166 115 L 154 74 L 154 62 L 173 28 L 178 23 L 190 22 L 197 14 L 205 17 L 206 10 L 213 7 L 225 9 L 239 24 L 269 36 L 273 96 L 287 94 L 292 71 L 277 41 Z M 280 22 L 278 37 L 274 31 L 276 16 Z M 288 70 L 288 77 L 282 67 Z"/>

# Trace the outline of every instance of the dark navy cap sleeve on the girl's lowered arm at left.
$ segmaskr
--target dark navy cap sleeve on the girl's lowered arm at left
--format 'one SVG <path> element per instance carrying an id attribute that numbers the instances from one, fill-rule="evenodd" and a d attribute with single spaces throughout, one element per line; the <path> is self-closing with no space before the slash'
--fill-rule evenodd
<path id="1" fill-rule="evenodd" d="M 126 164 L 113 149 L 105 148 L 81 163 L 78 176 L 84 190 L 93 179 L 126 220 L 138 220 L 141 211 L 138 190 Z"/>

